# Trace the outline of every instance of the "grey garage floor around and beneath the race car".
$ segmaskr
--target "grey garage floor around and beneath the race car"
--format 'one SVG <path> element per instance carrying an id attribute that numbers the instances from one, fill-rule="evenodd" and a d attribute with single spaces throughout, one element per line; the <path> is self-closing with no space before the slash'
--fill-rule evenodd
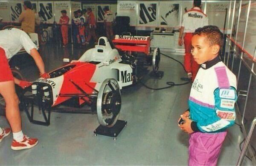
<path id="1" fill-rule="evenodd" d="M 62 66 L 63 57 L 71 57 L 71 48 L 41 46 L 41 55 L 47 71 Z M 78 57 L 85 49 L 75 49 Z M 167 53 L 166 53 L 167 54 Z M 168 54 L 183 61 L 182 56 Z M 75 57 L 77 59 L 77 57 Z M 151 67 L 148 67 L 151 72 Z M 143 81 L 151 87 L 166 86 L 167 81 L 183 83 L 186 77 L 182 66 L 161 57 L 162 79 L 145 75 Z M 35 80 L 35 66 L 23 68 L 27 80 Z M 64 114 L 53 112 L 50 126 L 29 123 L 21 112 L 23 133 L 37 137 L 39 144 L 29 150 L 13 151 L 12 136 L 0 143 L 0 165 L 187 165 L 188 135 L 177 126 L 177 119 L 187 109 L 191 84 L 155 91 L 141 84 L 122 90 L 122 109 L 119 119 L 127 120 L 117 140 L 93 136 L 99 126 L 96 114 Z M 0 117 L 0 126 L 9 126 L 6 117 Z M 243 140 L 239 126 L 229 129 L 218 165 L 236 165 Z M 244 158 L 244 165 L 252 165 Z"/>

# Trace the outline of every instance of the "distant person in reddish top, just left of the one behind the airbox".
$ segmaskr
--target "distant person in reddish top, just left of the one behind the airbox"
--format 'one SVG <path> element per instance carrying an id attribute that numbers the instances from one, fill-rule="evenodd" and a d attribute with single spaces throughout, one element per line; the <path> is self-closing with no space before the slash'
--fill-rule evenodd
<path id="1" fill-rule="evenodd" d="M 93 14 L 93 11 L 91 8 L 87 9 L 87 14 L 88 14 L 88 20 L 87 23 L 89 24 L 89 30 L 88 30 L 88 37 L 87 37 L 87 42 L 90 43 L 91 38 L 93 37 L 93 40 L 91 43 L 94 43 L 97 41 L 96 37 L 96 21 L 95 21 L 95 16 Z"/>

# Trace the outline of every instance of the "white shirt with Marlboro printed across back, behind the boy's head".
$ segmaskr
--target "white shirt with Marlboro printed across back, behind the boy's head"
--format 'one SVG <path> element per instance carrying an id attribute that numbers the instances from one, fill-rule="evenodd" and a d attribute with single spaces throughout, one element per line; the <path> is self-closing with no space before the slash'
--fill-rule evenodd
<path id="1" fill-rule="evenodd" d="M 193 33 L 195 29 L 208 26 L 208 17 L 200 8 L 194 7 L 183 15 L 181 26 L 184 26 L 184 33 Z"/>

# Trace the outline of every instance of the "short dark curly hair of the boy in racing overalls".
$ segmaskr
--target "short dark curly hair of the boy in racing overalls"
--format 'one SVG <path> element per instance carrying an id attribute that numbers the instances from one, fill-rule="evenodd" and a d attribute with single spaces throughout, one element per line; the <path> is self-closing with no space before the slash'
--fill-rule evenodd
<path id="1" fill-rule="evenodd" d="M 223 33 L 221 33 L 218 26 L 204 26 L 195 30 L 193 35 L 203 35 L 210 46 L 218 44 L 220 47 L 223 45 Z"/>

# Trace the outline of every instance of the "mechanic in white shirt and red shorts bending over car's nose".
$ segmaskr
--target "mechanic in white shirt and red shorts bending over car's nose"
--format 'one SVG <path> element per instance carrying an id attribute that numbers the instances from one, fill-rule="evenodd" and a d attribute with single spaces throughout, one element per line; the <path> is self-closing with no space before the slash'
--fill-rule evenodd
<path id="1" fill-rule="evenodd" d="M 44 62 L 35 44 L 26 32 L 16 28 L 8 28 L 1 30 L 0 36 L 0 94 L 5 100 L 6 118 L 12 128 L 13 141 L 11 148 L 13 150 L 29 149 L 38 143 L 38 139 L 23 135 L 21 130 L 19 99 L 15 92 L 15 84 L 24 89 L 30 86 L 31 83 L 14 78 L 8 60 L 24 47 L 26 52 L 35 60 L 40 71 L 40 76 L 47 78 L 49 75 L 45 73 Z M 0 142 L 4 137 L 8 136 L 10 132 L 11 129 L 9 128 L 0 128 Z"/>

